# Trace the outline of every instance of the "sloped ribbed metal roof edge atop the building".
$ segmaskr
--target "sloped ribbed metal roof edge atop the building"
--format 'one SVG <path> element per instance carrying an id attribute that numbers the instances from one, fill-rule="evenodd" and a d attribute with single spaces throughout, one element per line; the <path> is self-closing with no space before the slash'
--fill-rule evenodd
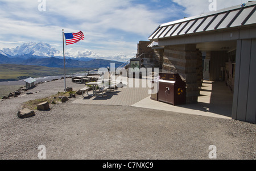
<path id="1" fill-rule="evenodd" d="M 243 7 L 234 6 L 225 10 L 165 23 L 156 28 L 150 37 L 148 37 L 148 40 L 154 41 L 166 37 L 255 24 L 255 11 L 256 1 L 248 2 Z"/>

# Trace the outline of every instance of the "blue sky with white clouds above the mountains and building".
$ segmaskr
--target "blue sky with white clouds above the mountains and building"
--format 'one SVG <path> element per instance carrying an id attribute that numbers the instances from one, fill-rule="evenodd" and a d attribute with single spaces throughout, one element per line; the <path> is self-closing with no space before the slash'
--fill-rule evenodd
<path id="1" fill-rule="evenodd" d="M 62 53 L 64 32 L 84 32 L 66 55 L 127 61 L 140 40 L 162 23 L 240 5 L 243 0 L 0 0 L 0 49 L 29 41 L 49 43 Z M 43 5 L 43 6 L 39 6 Z M 40 7 L 45 7 L 45 11 Z"/>

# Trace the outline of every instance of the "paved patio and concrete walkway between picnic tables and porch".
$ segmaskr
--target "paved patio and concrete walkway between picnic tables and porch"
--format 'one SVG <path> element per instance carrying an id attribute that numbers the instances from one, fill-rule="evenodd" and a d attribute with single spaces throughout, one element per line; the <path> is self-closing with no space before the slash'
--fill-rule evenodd
<path id="1" fill-rule="evenodd" d="M 233 94 L 224 82 L 204 81 L 197 104 L 173 106 L 153 101 L 148 88 L 122 87 L 106 93 L 104 97 L 79 98 L 73 103 L 86 105 L 120 105 L 146 109 L 174 111 L 184 114 L 231 119 Z"/>

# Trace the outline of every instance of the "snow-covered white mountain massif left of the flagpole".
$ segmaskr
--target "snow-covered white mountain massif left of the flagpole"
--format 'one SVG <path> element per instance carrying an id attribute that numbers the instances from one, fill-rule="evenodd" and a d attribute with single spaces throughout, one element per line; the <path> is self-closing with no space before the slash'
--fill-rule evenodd
<path id="1" fill-rule="evenodd" d="M 24 43 L 21 46 L 18 46 L 13 49 L 3 48 L 2 51 L 0 50 L 0 53 L 2 55 L 6 55 L 9 57 L 24 56 L 24 55 L 53 57 L 55 56 L 55 54 L 59 54 L 60 52 L 47 43 L 29 42 L 29 43 Z"/>

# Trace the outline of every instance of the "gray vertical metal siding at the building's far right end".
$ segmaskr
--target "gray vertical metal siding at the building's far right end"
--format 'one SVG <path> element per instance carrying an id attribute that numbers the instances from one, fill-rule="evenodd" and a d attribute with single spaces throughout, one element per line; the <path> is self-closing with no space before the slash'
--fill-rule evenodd
<path id="1" fill-rule="evenodd" d="M 232 118 L 256 121 L 256 39 L 237 41 Z"/>

